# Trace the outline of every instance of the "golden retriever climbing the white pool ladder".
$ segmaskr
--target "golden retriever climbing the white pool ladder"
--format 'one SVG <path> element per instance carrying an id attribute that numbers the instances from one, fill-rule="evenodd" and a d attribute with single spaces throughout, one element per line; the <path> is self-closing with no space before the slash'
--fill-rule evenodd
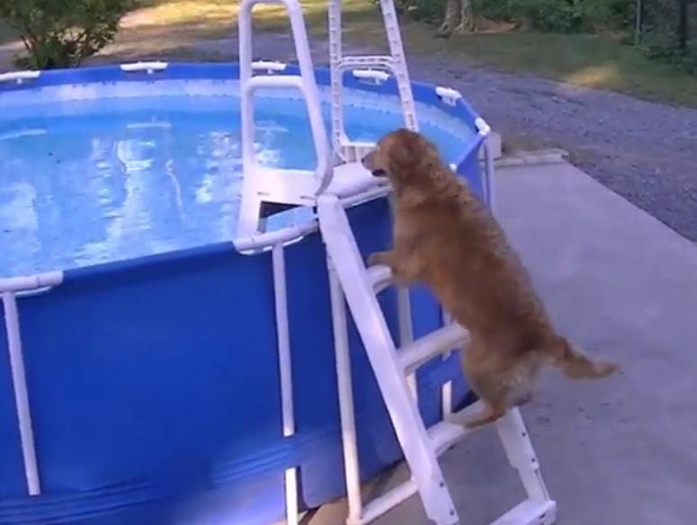
<path id="1" fill-rule="evenodd" d="M 485 410 L 465 426 L 492 423 L 530 400 L 545 364 L 567 378 L 603 378 L 619 369 L 591 360 L 556 332 L 504 230 L 430 141 L 398 129 L 362 164 L 388 177 L 396 197 L 394 245 L 369 263 L 389 266 L 398 283 L 430 287 L 469 330 L 462 365 Z"/>

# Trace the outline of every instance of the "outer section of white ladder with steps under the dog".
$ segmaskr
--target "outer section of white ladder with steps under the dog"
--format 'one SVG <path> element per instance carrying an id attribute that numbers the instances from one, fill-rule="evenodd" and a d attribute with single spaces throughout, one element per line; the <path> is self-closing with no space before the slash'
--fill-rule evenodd
<path id="1" fill-rule="evenodd" d="M 467 435 L 461 420 L 480 409 L 472 405 L 451 421 L 426 429 L 408 387 L 406 376 L 437 355 L 448 353 L 467 340 L 459 325 L 448 324 L 414 343 L 398 349 L 389 334 L 387 321 L 376 293 L 389 280 L 382 266 L 366 268 L 358 251 L 344 205 L 334 195 L 318 199 L 319 227 L 326 244 L 332 309 L 335 325 L 336 369 L 339 382 L 344 467 L 349 501 L 349 525 L 369 523 L 413 494 L 420 494 L 428 518 L 438 525 L 460 522 L 451 494 L 442 476 L 438 456 Z M 411 479 L 367 505 L 362 504 L 358 476 L 353 393 L 348 358 L 344 297 L 361 335 L 371 368 L 388 407 L 399 444 L 411 470 Z M 555 520 L 556 503 L 550 499 L 532 443 L 517 409 L 496 423 L 496 430 L 511 465 L 518 471 L 527 498 L 492 525 L 550 525 Z"/>

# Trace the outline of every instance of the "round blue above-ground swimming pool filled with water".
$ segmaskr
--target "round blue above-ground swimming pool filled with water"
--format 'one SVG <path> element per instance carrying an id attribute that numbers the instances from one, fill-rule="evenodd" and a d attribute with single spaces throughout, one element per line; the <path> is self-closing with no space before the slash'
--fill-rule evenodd
<path id="1" fill-rule="evenodd" d="M 321 238 L 286 249 L 290 438 L 281 432 L 271 255 L 238 254 L 232 243 L 237 75 L 235 65 L 99 67 L 0 89 L 0 523 L 263 524 L 282 517 L 288 467 L 299 467 L 305 507 L 344 494 Z M 317 70 L 317 82 L 328 102 L 328 71 Z M 371 142 L 403 125 L 392 81 L 348 73 L 345 85 L 350 138 Z M 421 131 L 482 195 L 477 115 L 431 85 L 414 93 Z M 299 93 L 261 90 L 255 101 L 259 162 L 312 169 Z M 353 207 L 349 219 L 363 253 L 389 245 L 386 200 Z M 269 227 L 313 220 L 312 209 L 291 209 Z M 412 297 L 416 335 L 441 325 L 430 294 Z M 380 302 L 396 330 L 394 292 Z M 7 357 L 17 312 L 40 492 L 31 496 Z M 368 479 L 401 452 L 353 326 L 350 338 Z M 443 383 L 453 381 L 455 405 L 465 400 L 457 359 L 418 372 L 427 423 L 440 417 Z"/>

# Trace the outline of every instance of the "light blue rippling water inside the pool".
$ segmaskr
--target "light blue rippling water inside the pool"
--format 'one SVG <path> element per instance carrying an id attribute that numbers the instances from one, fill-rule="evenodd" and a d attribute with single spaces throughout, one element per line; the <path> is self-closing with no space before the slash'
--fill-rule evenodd
<path id="1" fill-rule="evenodd" d="M 376 140 L 400 127 L 398 107 L 386 108 L 347 108 L 348 135 Z M 234 95 L 4 104 L 0 277 L 231 241 L 242 182 L 238 110 Z M 259 98 L 255 114 L 262 164 L 315 165 L 304 102 Z M 421 130 L 449 162 L 470 139 L 428 122 Z M 293 210 L 271 227 L 307 219 Z"/>

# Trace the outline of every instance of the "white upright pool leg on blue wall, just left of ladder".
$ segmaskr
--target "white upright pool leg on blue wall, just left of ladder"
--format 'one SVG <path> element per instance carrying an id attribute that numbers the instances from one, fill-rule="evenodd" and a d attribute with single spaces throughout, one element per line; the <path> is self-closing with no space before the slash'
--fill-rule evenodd
<path id="1" fill-rule="evenodd" d="M 283 437 L 295 434 L 293 409 L 293 378 L 290 360 L 290 328 L 288 323 L 288 290 L 286 286 L 285 253 L 283 245 L 273 246 L 273 295 L 276 310 L 276 337 L 278 340 L 279 374 L 281 377 L 281 417 Z M 295 467 L 285 472 L 286 520 L 298 523 L 298 473 Z"/>

